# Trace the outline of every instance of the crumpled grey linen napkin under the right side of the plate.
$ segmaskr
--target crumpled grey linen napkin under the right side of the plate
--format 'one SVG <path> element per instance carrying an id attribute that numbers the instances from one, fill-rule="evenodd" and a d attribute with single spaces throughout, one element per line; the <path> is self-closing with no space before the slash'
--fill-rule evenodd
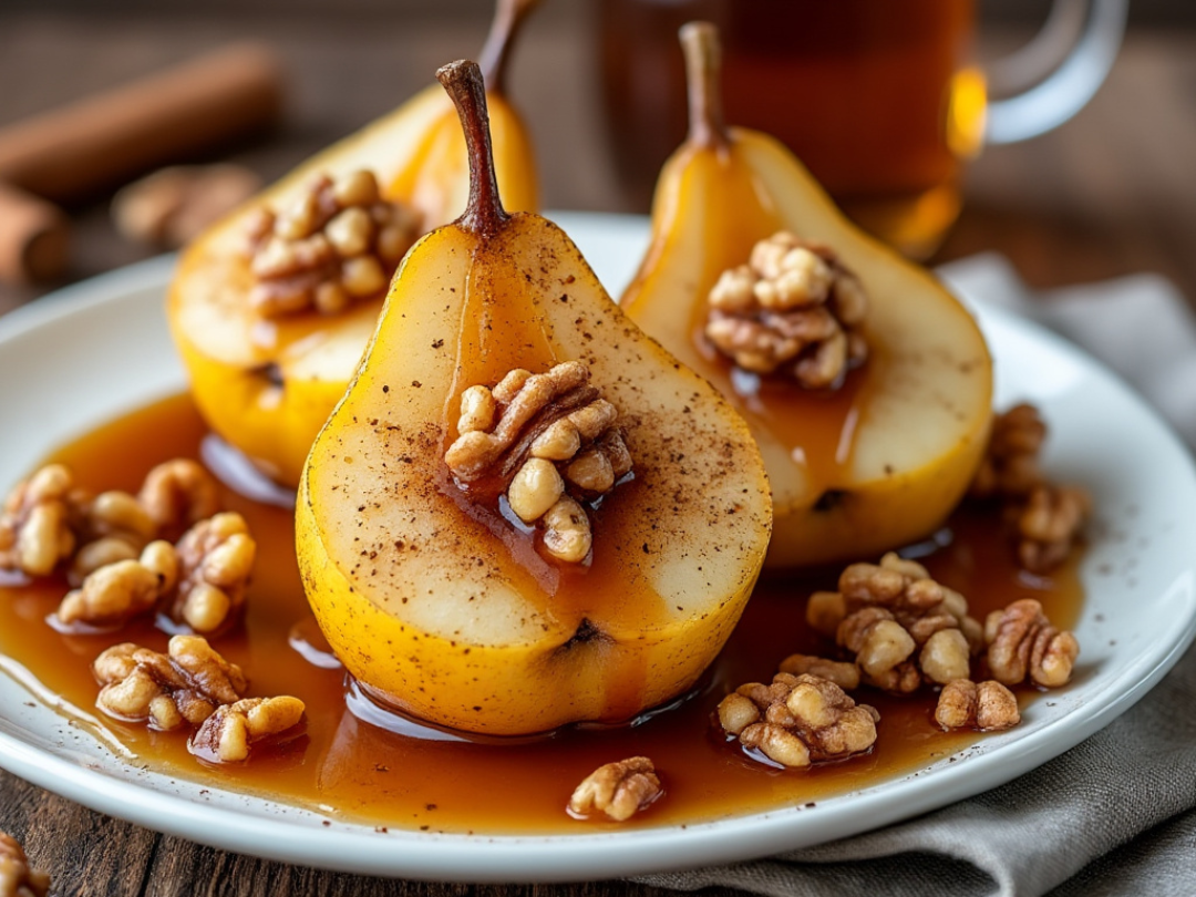
<path id="1" fill-rule="evenodd" d="M 1007 261 L 940 270 L 1117 370 L 1196 444 L 1196 319 L 1152 275 L 1035 297 Z M 1196 649 L 1137 706 L 1006 786 L 897 825 L 753 862 L 639 879 L 775 897 L 1196 895 Z"/>

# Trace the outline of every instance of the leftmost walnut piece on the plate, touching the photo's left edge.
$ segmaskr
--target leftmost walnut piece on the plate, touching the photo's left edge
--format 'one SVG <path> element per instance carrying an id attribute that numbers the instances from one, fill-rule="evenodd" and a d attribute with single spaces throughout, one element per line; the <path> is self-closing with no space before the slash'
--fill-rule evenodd
<path id="1" fill-rule="evenodd" d="M 0 569 L 48 576 L 71 557 L 75 492 L 74 476 L 62 464 L 48 464 L 13 488 L 0 512 Z"/>

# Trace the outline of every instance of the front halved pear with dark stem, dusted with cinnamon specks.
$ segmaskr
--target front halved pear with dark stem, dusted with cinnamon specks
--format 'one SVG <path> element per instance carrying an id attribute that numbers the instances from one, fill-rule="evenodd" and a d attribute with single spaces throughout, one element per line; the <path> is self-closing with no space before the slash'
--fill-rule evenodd
<path id="1" fill-rule="evenodd" d="M 768 545 L 763 464 L 727 402 L 618 310 L 556 225 L 502 209 L 477 66 L 438 78 L 470 145 L 469 208 L 407 255 L 307 457 L 304 586 L 348 671 L 409 714 L 499 736 L 628 720 L 691 688 L 736 626 Z M 450 448 L 482 437 L 465 420 L 496 384 L 582 367 L 630 471 L 576 504 L 592 545 L 559 560 L 512 513 L 509 468 L 487 462 L 477 489 Z M 549 454 L 524 470 L 551 469 Z"/>

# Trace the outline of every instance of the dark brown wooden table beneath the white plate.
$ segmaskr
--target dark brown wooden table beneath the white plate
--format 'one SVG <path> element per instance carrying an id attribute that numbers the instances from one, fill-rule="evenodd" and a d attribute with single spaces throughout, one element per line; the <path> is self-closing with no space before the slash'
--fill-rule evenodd
<path id="1" fill-rule="evenodd" d="M 267 177 L 396 105 L 433 69 L 480 45 L 484 23 L 410 24 L 368 11 L 347 22 L 298 12 L 230 22 L 0 14 L 0 123 L 117 84 L 231 37 L 273 42 L 293 75 L 287 121 L 234 158 Z M 513 93 L 527 110 L 553 208 L 640 210 L 620 199 L 594 115 L 586 13 L 548 5 L 529 28 Z M 1058 132 L 993 150 L 969 172 L 968 203 L 940 252 L 1007 255 L 1035 286 L 1153 270 L 1196 298 L 1196 33 L 1134 33 L 1092 105 Z M 103 205 L 79 209 L 71 275 L 144 257 Z M 0 313 L 39 288 L 0 286 Z M 22 840 L 63 895 L 463 893 L 450 885 L 364 879 L 283 866 L 165 837 L 84 810 L 0 773 L 0 830 Z M 477 887 L 505 895 L 652 893 L 626 883 Z M 664 892 L 661 892 L 664 893 Z"/>

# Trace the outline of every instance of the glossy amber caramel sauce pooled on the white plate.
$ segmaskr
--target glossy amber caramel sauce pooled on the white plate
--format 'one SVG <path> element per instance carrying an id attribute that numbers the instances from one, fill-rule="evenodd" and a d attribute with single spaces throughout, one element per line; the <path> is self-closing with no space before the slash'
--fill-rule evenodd
<path id="1" fill-rule="evenodd" d="M 153 464 L 199 457 L 205 435 L 191 401 L 179 396 L 104 426 L 51 459 L 69 464 L 91 488 L 135 490 Z M 940 732 L 932 722 L 932 694 L 898 700 L 864 690 L 860 700 L 881 714 L 879 740 L 865 756 L 786 771 L 725 742 L 710 722 L 724 694 L 744 682 L 767 682 L 789 653 L 826 653 L 805 626 L 804 598 L 816 587 L 831 586 L 834 574 L 762 582 L 695 694 L 639 725 L 578 727 L 498 743 L 420 727 L 373 707 L 355 690 L 347 702 L 343 671 L 322 646 L 304 599 L 291 512 L 231 490 L 224 499 L 228 509 L 249 520 L 260 554 L 244 627 L 214 643 L 245 669 L 251 695 L 300 697 L 307 706 L 306 724 L 282 743 L 258 749 L 244 764 L 214 767 L 193 757 L 181 733 L 152 732 L 97 712 L 99 725 L 139 764 L 172 776 L 378 826 L 580 832 L 616 826 L 572 819 L 565 806 L 573 788 L 602 763 L 633 755 L 655 762 L 665 795 L 623 828 L 805 805 L 910 773 L 983 737 Z M 1033 597 L 1055 623 L 1074 626 L 1082 603 L 1075 559 L 1051 579 L 1031 578 L 1017 569 L 990 517 L 959 512 L 948 527 L 911 553 L 925 554 L 932 574 L 962 591 L 975 616 Z M 65 591 L 59 581 L 0 587 L 0 653 L 30 670 L 49 692 L 91 713 L 98 694 L 90 670 L 94 657 L 122 641 L 164 651 L 167 636 L 147 620 L 108 634 L 60 634 L 45 617 Z M 1020 694 L 1023 706 L 1033 697 L 1032 690 Z"/>

